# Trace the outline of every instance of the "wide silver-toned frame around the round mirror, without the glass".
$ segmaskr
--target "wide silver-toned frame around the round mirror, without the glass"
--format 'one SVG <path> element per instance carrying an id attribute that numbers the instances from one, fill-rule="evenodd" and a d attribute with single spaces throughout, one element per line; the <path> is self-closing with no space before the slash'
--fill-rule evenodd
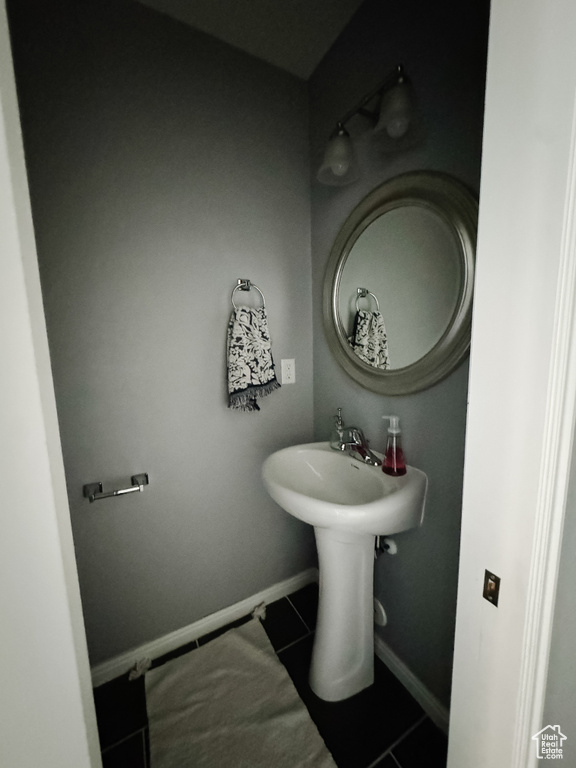
<path id="1" fill-rule="evenodd" d="M 411 204 L 435 212 L 460 243 L 459 295 L 446 330 L 425 355 L 403 368 L 378 370 L 361 360 L 348 343 L 339 314 L 338 291 L 346 260 L 364 230 L 388 211 Z M 332 246 L 322 303 L 328 346 L 349 376 L 381 395 L 407 395 L 437 384 L 462 362 L 470 349 L 477 230 L 476 196 L 452 176 L 436 171 L 396 176 L 356 206 Z"/>

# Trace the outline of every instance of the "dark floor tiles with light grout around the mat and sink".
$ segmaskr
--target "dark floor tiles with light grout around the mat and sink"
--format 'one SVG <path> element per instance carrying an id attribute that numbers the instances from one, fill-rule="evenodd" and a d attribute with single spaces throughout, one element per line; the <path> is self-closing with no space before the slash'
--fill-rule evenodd
<path id="1" fill-rule="evenodd" d="M 375 682 L 346 701 L 328 703 L 310 690 L 318 589 L 311 584 L 266 607 L 264 628 L 338 768 L 445 768 L 447 742 L 396 677 L 376 659 Z M 200 638 L 210 642 L 231 626 Z M 192 651 L 190 643 L 154 661 L 159 666 Z M 128 676 L 94 689 L 104 768 L 150 765 L 144 678 Z M 295 766 L 294 768 L 297 768 Z"/>

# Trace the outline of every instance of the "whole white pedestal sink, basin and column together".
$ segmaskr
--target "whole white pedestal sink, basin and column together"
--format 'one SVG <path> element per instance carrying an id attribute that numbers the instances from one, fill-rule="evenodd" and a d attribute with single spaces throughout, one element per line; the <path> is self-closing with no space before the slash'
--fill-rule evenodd
<path id="1" fill-rule="evenodd" d="M 340 701 L 374 681 L 374 539 L 417 528 L 428 480 L 408 467 L 391 477 L 328 442 L 269 456 L 262 478 L 286 512 L 314 526 L 320 571 L 310 686 Z"/>

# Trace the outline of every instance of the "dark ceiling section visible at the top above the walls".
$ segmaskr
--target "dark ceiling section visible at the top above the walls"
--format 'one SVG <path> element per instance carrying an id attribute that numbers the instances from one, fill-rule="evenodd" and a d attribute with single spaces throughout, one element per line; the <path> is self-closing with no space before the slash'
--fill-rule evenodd
<path id="1" fill-rule="evenodd" d="M 140 0 L 307 80 L 363 0 Z"/>

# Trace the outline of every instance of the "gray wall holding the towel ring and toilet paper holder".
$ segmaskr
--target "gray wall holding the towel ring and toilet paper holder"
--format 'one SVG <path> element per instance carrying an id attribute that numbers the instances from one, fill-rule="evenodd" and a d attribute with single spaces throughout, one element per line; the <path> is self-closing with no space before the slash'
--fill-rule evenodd
<path id="1" fill-rule="evenodd" d="M 48 6 L 48 7 L 47 7 Z M 138 4 L 11 4 L 92 663 L 315 562 L 260 482 L 312 437 L 305 84 Z M 297 383 L 226 408 L 238 277 Z M 238 296 L 238 294 L 236 294 Z M 143 494 L 89 504 L 84 483 Z"/>

